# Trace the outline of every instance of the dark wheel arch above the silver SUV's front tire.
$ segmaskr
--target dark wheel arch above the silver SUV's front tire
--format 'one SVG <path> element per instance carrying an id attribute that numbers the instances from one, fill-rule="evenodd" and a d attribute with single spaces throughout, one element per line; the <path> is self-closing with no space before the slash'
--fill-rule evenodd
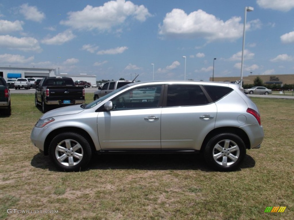
<path id="1" fill-rule="evenodd" d="M 82 135 L 89 142 L 91 150 L 93 152 L 96 152 L 95 144 L 87 131 L 83 130 L 82 128 L 77 128 L 77 127 L 62 127 L 62 128 L 57 128 L 57 129 L 51 131 L 47 135 L 47 137 L 44 141 L 44 155 L 49 155 L 48 149 L 49 149 L 49 145 L 50 145 L 52 139 L 56 135 L 58 135 L 60 133 L 64 133 L 64 132 L 72 132 L 72 133 L 77 133 L 77 134 Z"/>

